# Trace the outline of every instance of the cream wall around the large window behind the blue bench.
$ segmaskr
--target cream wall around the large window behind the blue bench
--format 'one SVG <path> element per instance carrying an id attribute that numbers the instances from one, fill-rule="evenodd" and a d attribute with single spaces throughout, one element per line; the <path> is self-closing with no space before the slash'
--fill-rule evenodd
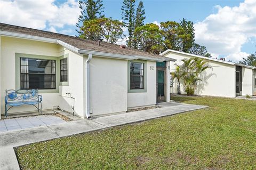
<path id="1" fill-rule="evenodd" d="M 60 56 L 61 46 L 52 43 L 1 36 L 1 114 L 4 114 L 5 90 L 15 89 L 15 53 Z M 58 105 L 59 93 L 44 93 L 42 109 Z M 9 112 L 33 111 L 34 106 L 13 107 Z"/>

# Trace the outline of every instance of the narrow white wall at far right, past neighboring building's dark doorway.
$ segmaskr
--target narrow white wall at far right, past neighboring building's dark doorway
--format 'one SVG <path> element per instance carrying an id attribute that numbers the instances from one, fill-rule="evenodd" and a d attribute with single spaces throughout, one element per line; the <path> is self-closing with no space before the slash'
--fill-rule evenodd
<path id="1" fill-rule="evenodd" d="M 249 68 L 242 68 L 242 95 L 254 94 L 254 74 Z"/>

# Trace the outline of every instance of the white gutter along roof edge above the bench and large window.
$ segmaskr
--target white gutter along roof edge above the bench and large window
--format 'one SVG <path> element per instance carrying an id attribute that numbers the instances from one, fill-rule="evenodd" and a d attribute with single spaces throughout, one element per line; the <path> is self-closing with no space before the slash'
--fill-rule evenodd
<path id="1" fill-rule="evenodd" d="M 12 32 L 8 32 L 8 31 L 0 31 L 0 35 L 1 36 L 7 36 L 7 37 L 32 39 L 32 40 L 46 42 L 46 43 L 57 43 L 56 39 L 52 39 L 52 38 L 44 38 L 44 37 L 27 35 L 27 34 L 12 33 Z"/>

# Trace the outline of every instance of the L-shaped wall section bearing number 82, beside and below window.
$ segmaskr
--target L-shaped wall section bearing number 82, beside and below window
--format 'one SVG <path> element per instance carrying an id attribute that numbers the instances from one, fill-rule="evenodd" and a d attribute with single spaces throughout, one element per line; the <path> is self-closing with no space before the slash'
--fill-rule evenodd
<path id="1" fill-rule="evenodd" d="M 153 66 L 154 70 L 150 70 L 150 66 Z M 147 92 L 128 93 L 127 107 L 143 107 L 154 104 L 156 104 L 156 62 L 147 61 Z"/>

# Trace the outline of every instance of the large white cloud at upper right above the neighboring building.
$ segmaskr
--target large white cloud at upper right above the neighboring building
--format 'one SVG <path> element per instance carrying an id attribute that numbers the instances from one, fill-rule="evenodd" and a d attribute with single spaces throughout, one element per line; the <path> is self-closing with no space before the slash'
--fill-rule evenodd
<path id="1" fill-rule="evenodd" d="M 245 0 L 235 7 L 215 6 L 218 12 L 202 22 L 195 23 L 196 43 L 204 45 L 210 53 L 228 55 L 233 61 L 245 57 L 243 44 L 256 37 L 256 1 Z"/>

